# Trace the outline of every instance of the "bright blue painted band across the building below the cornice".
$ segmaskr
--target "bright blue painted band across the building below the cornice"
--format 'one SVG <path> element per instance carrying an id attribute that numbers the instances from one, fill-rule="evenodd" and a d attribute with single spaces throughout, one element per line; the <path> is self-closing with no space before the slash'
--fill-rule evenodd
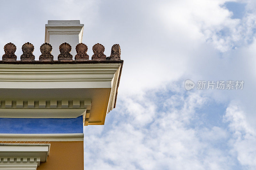
<path id="1" fill-rule="evenodd" d="M 0 118 L 0 133 L 83 133 L 83 116 L 77 118 Z"/>

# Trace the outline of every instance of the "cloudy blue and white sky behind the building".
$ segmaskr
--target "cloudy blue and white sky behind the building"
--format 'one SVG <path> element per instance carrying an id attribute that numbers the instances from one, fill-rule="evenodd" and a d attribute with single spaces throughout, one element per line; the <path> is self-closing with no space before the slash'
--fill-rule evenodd
<path id="1" fill-rule="evenodd" d="M 120 45 L 116 108 L 84 127 L 84 168 L 256 169 L 255 1 L 0 2 L 0 47 L 29 41 L 36 60 L 47 20 L 80 20 L 89 56 Z M 197 89 L 218 80 L 243 89 Z"/>

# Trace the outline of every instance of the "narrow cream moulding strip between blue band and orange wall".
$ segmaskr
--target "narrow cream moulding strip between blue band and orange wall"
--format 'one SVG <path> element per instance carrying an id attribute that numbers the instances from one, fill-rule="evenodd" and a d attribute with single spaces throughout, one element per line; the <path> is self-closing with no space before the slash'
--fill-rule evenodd
<path id="1" fill-rule="evenodd" d="M 84 133 L 67 134 L 0 134 L 0 141 L 84 141 Z"/>

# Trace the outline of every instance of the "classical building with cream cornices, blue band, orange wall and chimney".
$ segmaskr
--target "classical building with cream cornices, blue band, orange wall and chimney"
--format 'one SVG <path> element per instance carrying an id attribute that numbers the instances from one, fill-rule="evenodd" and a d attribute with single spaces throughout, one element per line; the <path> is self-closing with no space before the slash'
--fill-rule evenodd
<path id="1" fill-rule="evenodd" d="M 99 43 L 90 60 L 83 26 L 48 21 L 39 61 L 30 42 L 21 47 L 20 61 L 13 43 L 4 46 L 0 170 L 84 169 L 83 126 L 104 125 L 115 107 L 123 60 L 118 44 L 106 57 Z"/>

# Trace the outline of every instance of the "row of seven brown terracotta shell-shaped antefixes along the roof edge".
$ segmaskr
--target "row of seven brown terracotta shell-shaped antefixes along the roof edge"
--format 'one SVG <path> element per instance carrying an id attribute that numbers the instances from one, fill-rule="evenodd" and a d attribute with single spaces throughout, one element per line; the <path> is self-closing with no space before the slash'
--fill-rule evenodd
<path id="1" fill-rule="evenodd" d="M 79 43 L 76 45 L 76 56 L 75 60 L 72 59 L 70 54 L 71 45 L 67 42 L 60 44 L 58 55 L 58 60 L 53 60 L 52 46 L 49 43 L 44 43 L 40 47 L 41 55 L 39 60 L 35 61 L 35 56 L 33 55 L 34 46 L 33 44 L 27 42 L 22 46 L 23 54 L 20 56 L 20 61 L 17 61 L 17 56 L 15 55 L 16 46 L 13 43 L 7 43 L 4 46 L 5 54 L 2 57 L 0 64 L 76 64 L 76 63 L 123 63 L 121 60 L 121 48 L 119 44 L 115 44 L 111 48 L 111 55 L 106 57 L 104 54 L 105 47 L 100 43 L 95 44 L 92 47 L 93 55 L 92 60 L 89 60 L 89 55 L 87 55 L 88 47 Z"/>

